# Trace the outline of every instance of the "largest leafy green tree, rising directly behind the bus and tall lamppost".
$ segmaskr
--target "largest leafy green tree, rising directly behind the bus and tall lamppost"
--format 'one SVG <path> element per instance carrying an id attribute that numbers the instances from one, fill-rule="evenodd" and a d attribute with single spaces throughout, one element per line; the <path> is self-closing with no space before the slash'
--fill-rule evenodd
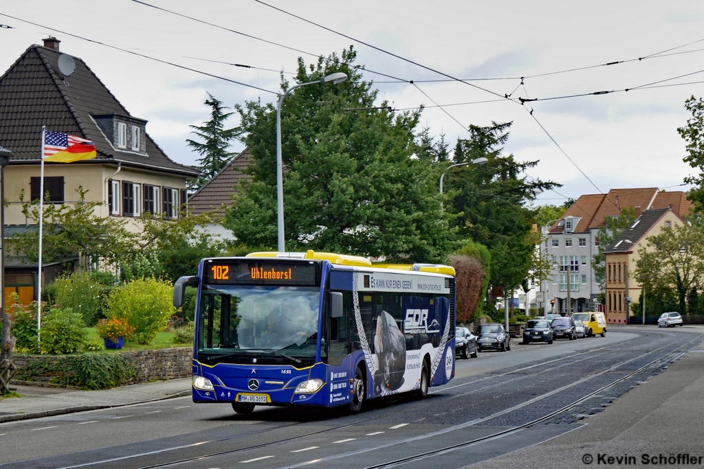
<path id="1" fill-rule="evenodd" d="M 282 105 L 287 249 L 386 256 L 391 262 L 445 260 L 453 229 L 441 210 L 439 167 L 411 158 L 419 149 L 413 130 L 420 110 L 394 115 L 385 102 L 377 107 L 377 91 L 363 81 L 355 58 L 349 49 L 311 65 L 298 59 L 296 82 L 332 72 L 344 72 L 348 80 L 301 87 Z M 282 90 L 288 87 L 283 81 Z M 225 227 L 246 245 L 274 248 L 276 109 L 257 101 L 237 109 L 256 165 L 253 181 L 237 188 Z"/>

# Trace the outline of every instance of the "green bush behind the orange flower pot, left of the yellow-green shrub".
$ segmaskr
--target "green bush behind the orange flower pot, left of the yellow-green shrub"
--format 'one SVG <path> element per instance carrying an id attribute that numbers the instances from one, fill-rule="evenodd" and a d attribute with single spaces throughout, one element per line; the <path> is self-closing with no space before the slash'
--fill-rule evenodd
<path id="1" fill-rule="evenodd" d="M 112 274 L 109 274 L 112 277 Z M 101 281 L 104 275 L 96 276 L 88 272 L 73 272 L 68 276 L 56 278 L 49 288 L 50 302 L 58 307 L 71 308 L 80 313 L 85 326 L 93 326 L 105 317 L 103 309 L 111 287 Z M 100 279 L 100 280 L 99 280 Z"/>

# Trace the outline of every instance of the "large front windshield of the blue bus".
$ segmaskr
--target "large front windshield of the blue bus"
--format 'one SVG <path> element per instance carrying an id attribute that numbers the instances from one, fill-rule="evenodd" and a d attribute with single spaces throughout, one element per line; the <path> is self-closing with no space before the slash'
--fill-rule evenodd
<path id="1" fill-rule="evenodd" d="M 199 355 L 315 357 L 320 288 L 203 285 Z"/>

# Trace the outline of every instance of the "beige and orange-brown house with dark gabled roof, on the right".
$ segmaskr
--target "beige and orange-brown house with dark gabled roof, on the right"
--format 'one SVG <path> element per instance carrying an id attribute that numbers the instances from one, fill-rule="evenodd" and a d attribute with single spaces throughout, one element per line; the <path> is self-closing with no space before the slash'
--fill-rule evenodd
<path id="1" fill-rule="evenodd" d="M 629 298 L 638 301 L 641 285 L 636 280 L 636 263 L 639 250 L 654 250 L 648 246 L 650 236 L 684 223 L 672 207 L 646 210 L 636 218 L 621 236 L 605 248 L 606 255 L 606 318 L 609 323 L 629 323 Z"/>

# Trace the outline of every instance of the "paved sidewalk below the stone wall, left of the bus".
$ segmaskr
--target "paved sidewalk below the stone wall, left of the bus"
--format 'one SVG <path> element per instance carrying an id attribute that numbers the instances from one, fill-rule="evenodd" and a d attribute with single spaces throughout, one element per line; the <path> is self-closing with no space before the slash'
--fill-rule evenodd
<path id="1" fill-rule="evenodd" d="M 11 387 L 17 387 L 16 392 L 23 397 L 0 400 L 0 423 L 189 396 L 191 378 L 113 387 L 101 391 L 13 385 Z"/>

